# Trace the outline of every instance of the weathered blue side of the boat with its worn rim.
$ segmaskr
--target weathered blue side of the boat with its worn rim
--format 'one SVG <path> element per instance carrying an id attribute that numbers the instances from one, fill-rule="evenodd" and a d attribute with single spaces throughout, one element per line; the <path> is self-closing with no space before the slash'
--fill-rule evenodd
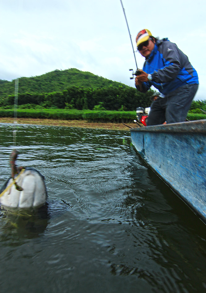
<path id="1" fill-rule="evenodd" d="M 206 120 L 131 129 L 136 150 L 206 222 Z"/>

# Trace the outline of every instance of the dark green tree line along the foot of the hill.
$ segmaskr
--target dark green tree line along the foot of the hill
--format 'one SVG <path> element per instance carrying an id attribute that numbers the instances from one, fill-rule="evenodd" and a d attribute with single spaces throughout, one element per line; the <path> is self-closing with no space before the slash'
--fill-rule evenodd
<path id="1" fill-rule="evenodd" d="M 89 87 L 69 87 L 62 92 L 51 93 L 25 93 L 18 95 L 18 105 L 36 104 L 44 108 L 68 108 L 77 110 L 92 110 L 100 105 L 105 110 L 125 110 L 133 111 L 136 107 L 148 107 L 151 103 L 150 96 L 153 91 L 143 94 L 133 87 L 109 87 L 89 88 Z M 11 107 L 14 105 L 14 95 L 2 98 L 1 107 Z"/>

